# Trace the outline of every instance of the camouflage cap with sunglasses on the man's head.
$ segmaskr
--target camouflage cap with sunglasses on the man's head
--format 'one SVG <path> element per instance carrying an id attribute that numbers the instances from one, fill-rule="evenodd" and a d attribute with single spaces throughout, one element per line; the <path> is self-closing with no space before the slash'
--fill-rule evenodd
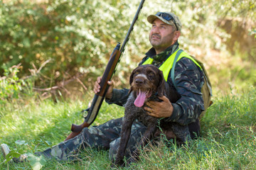
<path id="1" fill-rule="evenodd" d="M 181 21 L 178 19 L 178 16 L 176 16 L 174 13 L 158 12 L 155 15 L 148 16 L 147 21 L 149 21 L 149 23 L 153 23 L 156 18 L 159 18 L 161 21 L 171 26 L 175 26 L 177 30 L 181 31 Z"/>

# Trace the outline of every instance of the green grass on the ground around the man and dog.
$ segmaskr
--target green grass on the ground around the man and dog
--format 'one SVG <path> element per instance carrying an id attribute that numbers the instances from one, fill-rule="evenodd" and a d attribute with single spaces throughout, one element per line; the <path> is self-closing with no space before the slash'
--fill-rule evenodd
<path id="1" fill-rule="evenodd" d="M 7 103 L 0 109 L 0 143 L 21 154 L 58 144 L 69 134 L 72 123 L 82 123 L 80 111 L 87 108 L 88 98 L 92 97 L 55 103 L 32 97 Z M 201 137 L 189 147 L 167 147 L 164 142 L 148 146 L 137 164 L 124 169 L 256 169 L 256 89 L 213 100 L 201 121 Z M 94 125 L 123 113 L 123 108 L 103 103 Z M 87 149 L 81 155 L 76 162 L 48 161 L 42 169 L 111 169 L 107 151 Z M 2 162 L 0 156 L 0 169 L 31 169 L 28 163 Z"/>

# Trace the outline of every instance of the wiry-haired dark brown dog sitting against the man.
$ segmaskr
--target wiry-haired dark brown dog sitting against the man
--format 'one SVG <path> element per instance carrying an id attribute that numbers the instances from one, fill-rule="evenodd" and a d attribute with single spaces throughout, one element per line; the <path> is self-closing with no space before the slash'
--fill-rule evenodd
<path id="1" fill-rule="evenodd" d="M 142 137 L 137 149 L 133 152 L 132 159 L 129 163 L 134 162 L 139 157 L 139 147 L 143 147 L 153 138 L 158 125 L 158 118 L 154 118 L 144 111 L 143 107 L 146 101 L 160 101 L 158 96 L 166 96 L 171 103 L 175 103 L 180 95 L 175 89 L 171 89 L 168 83 L 164 80 L 164 75 L 157 67 L 151 64 L 141 65 L 134 69 L 130 76 L 129 83 L 131 89 L 130 95 L 125 104 L 124 123 L 122 124 L 121 140 L 117 157 L 114 164 L 123 166 L 125 149 L 131 134 L 132 123 L 138 119 L 146 125 L 146 132 Z M 164 120 L 160 121 L 161 130 L 173 132 L 176 140 L 185 142 L 190 139 L 190 132 L 188 126 L 178 125 L 178 123 L 167 123 Z"/>

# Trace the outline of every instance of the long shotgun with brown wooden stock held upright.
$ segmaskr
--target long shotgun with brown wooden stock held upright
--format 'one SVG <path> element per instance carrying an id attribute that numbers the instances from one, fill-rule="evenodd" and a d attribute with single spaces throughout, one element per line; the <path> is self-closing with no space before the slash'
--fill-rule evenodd
<path id="1" fill-rule="evenodd" d="M 114 47 L 114 50 L 112 54 L 110 55 L 110 60 L 107 63 L 107 67 L 105 69 L 105 72 L 102 75 L 102 80 L 100 81 L 100 92 L 95 94 L 94 98 L 92 99 L 92 104 L 90 108 L 87 108 L 86 110 L 82 112 L 87 112 L 87 115 L 85 116 L 85 120 L 81 125 L 74 125 L 71 126 L 71 133 L 68 135 L 68 137 L 65 140 L 70 140 L 76 135 L 79 135 L 83 128 L 89 127 L 97 117 L 97 113 L 100 111 L 100 106 L 102 105 L 102 101 L 104 101 L 105 95 L 107 93 L 108 84 L 107 81 L 110 81 L 112 79 L 113 74 L 117 70 L 117 64 L 120 62 L 120 59 L 122 57 L 122 53 L 124 52 L 124 47 L 127 45 L 127 42 L 129 40 L 129 37 L 132 33 L 132 30 L 134 28 L 134 24 L 136 23 L 139 13 L 142 10 L 142 6 L 144 4 L 145 0 L 142 0 L 139 4 L 139 7 L 137 9 L 137 12 L 134 16 L 134 19 L 132 21 L 131 26 L 129 27 L 128 33 L 124 39 L 124 42 L 122 43 L 122 47 L 120 49 L 120 43 L 117 43 L 117 46 Z"/>

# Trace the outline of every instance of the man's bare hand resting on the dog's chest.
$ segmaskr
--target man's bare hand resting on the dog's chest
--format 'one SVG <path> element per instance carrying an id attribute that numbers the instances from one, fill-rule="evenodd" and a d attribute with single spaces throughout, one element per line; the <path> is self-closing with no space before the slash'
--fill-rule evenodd
<path id="1" fill-rule="evenodd" d="M 144 107 L 144 110 L 147 111 L 149 115 L 156 118 L 169 118 L 174 111 L 174 107 L 166 96 L 161 96 L 159 98 L 162 102 L 148 101 L 146 102 L 146 105 L 149 107 Z"/>

